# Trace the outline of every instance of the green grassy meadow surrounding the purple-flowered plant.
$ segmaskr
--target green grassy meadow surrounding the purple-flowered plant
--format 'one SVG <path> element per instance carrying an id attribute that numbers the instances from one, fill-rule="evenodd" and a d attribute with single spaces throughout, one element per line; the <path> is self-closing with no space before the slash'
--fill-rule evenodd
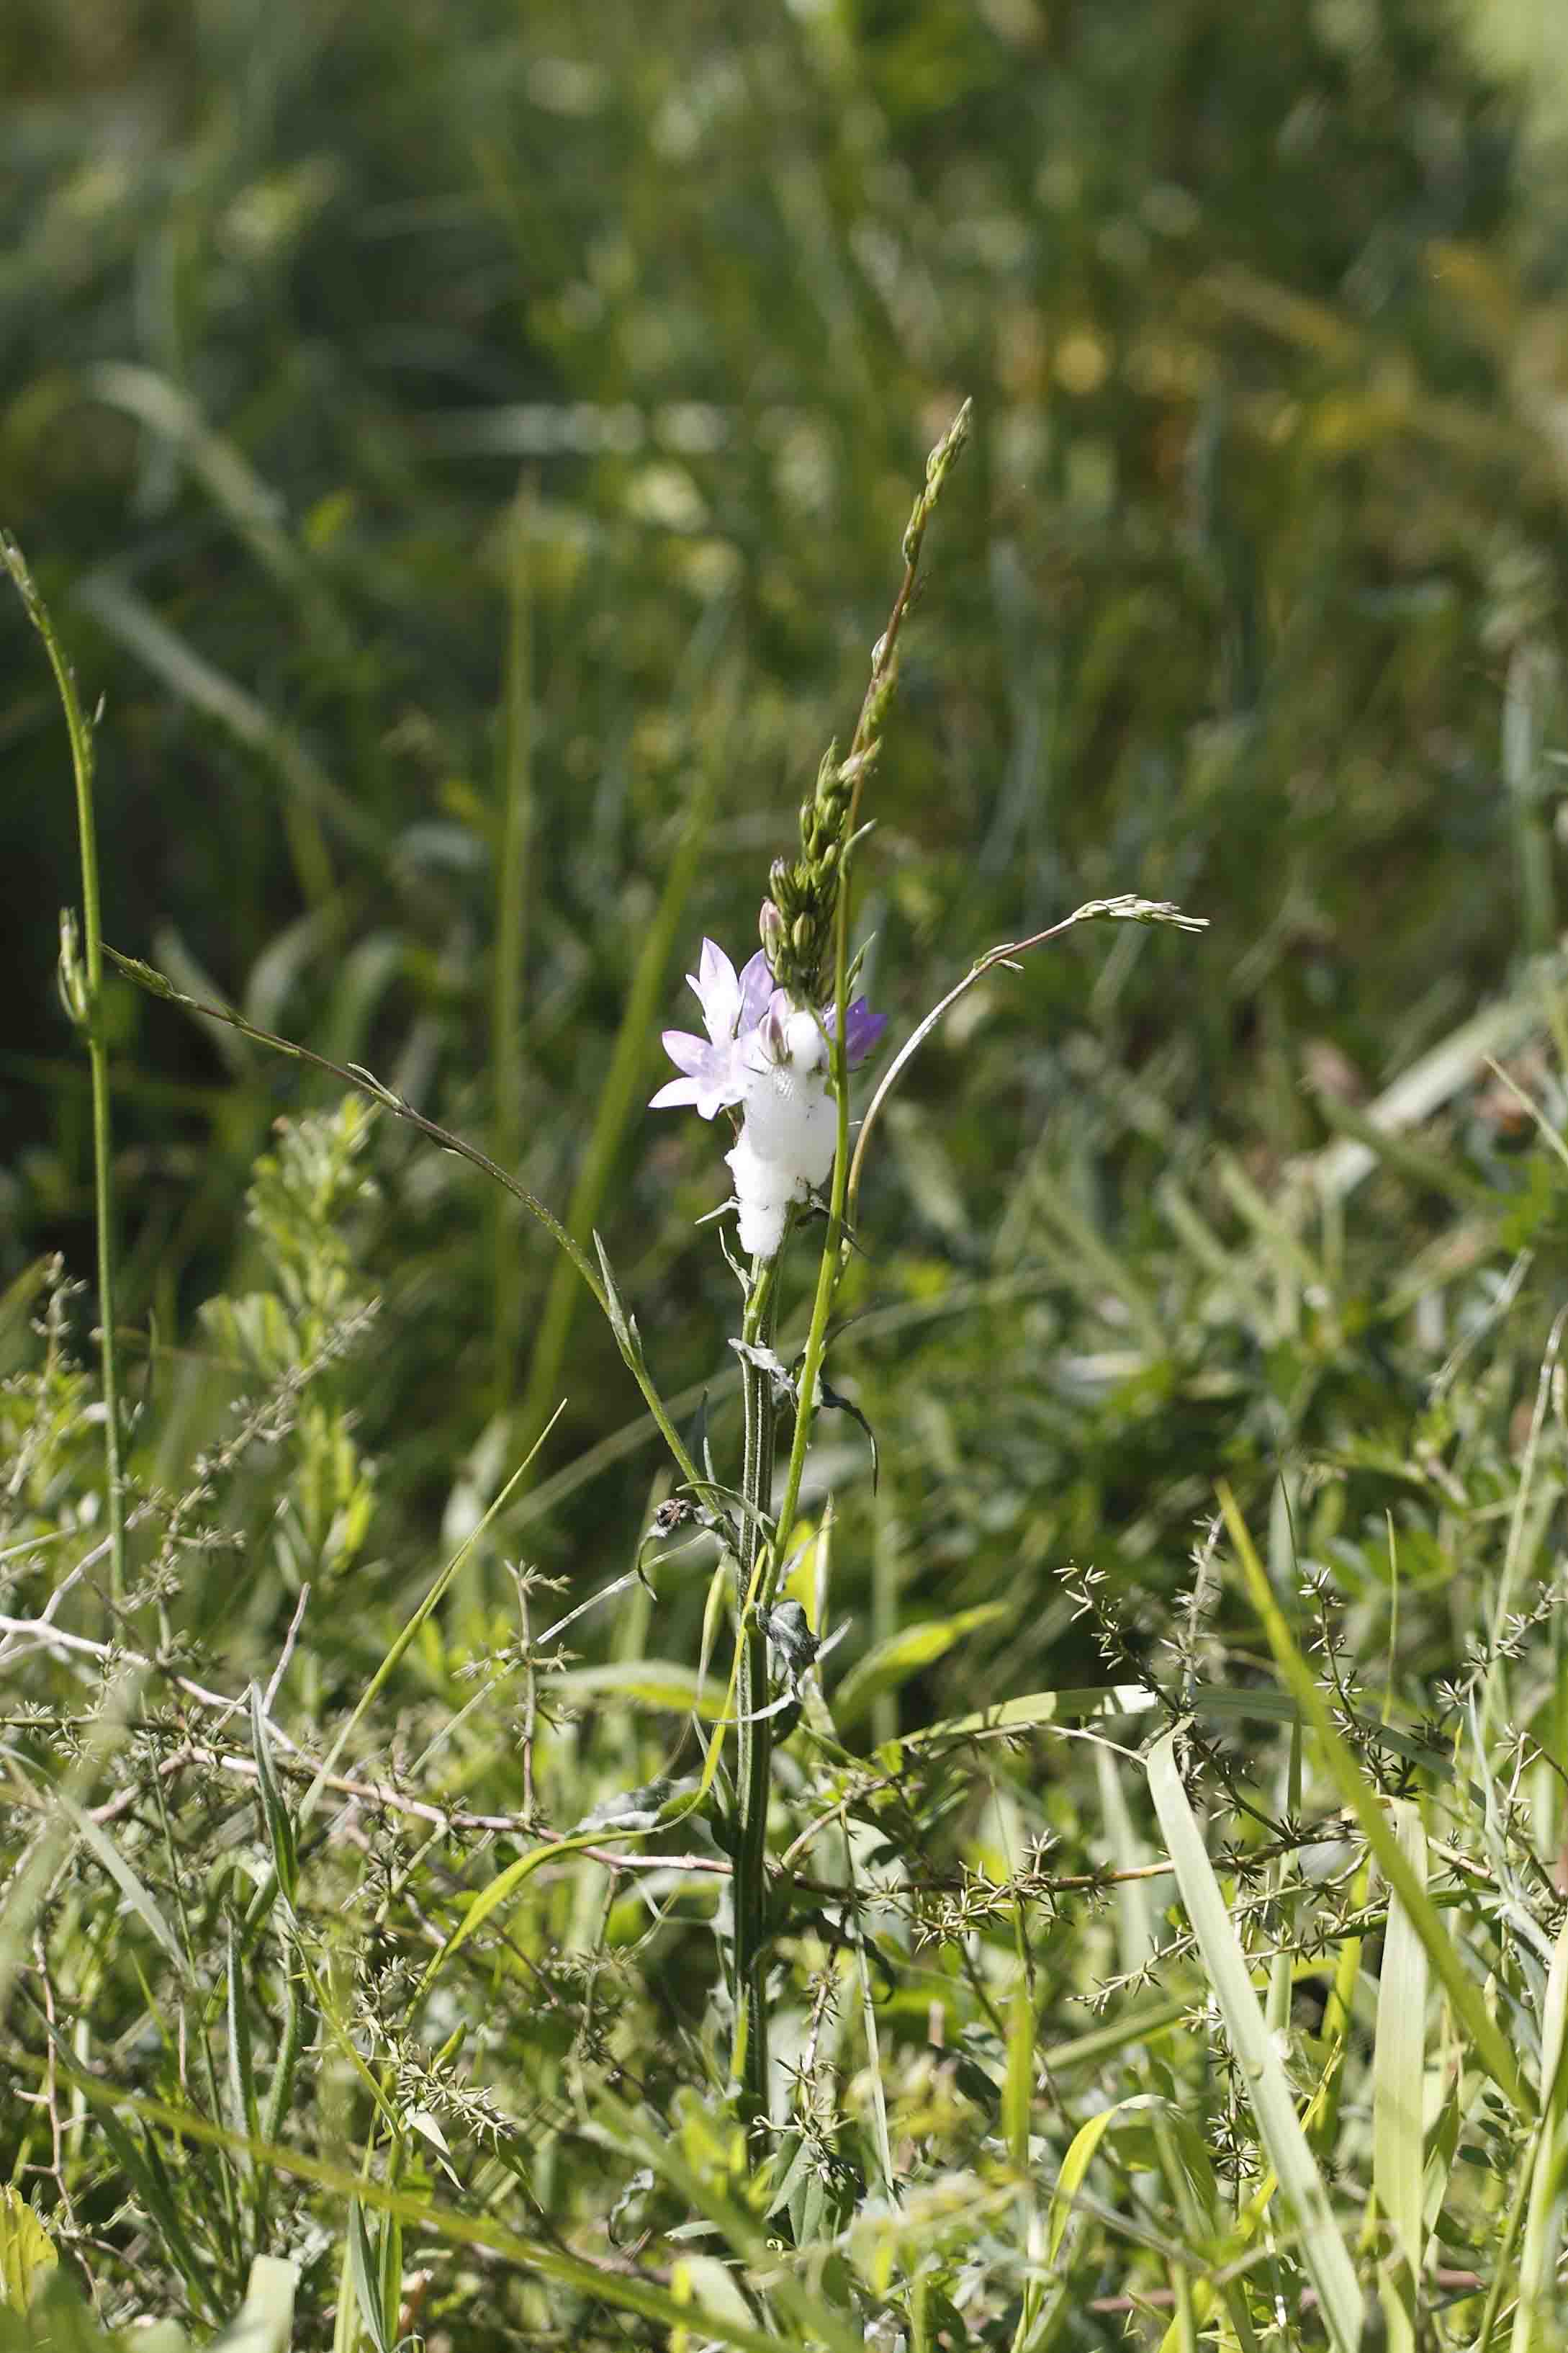
<path id="1" fill-rule="evenodd" d="M 811 2294 L 856 2341 L 1333 2341 L 1291 2228 L 1237 2221 L 1272 2144 L 1218 2012 L 1201 2026 L 1211 1948 L 1168 1875 L 1093 1885 L 1173 1852 L 1140 1746 L 1178 1720 L 1211 1847 L 1274 1873 L 1241 1871 L 1232 1911 L 1380 2294 L 1387 1897 L 1356 1878 L 1328 1751 L 1197 1706 L 1199 1682 L 1276 1689 L 1220 1480 L 1368 1786 L 1429 1840 L 1429 1882 L 1439 1854 L 1469 1859 L 1462 1967 L 1556 2113 L 1566 75 L 1556 16 L 1502 0 L 0 12 L 0 522 L 101 699 L 106 939 L 374 1071 L 597 1231 L 682 1428 L 708 1400 L 722 1475 L 738 1294 L 693 1221 L 724 1198 L 726 1139 L 644 1111 L 658 1031 L 693 1019 L 703 934 L 736 962 L 755 946 L 964 398 L 865 800 L 872 1002 L 898 1042 L 985 948 L 1105 894 L 1208 922 L 1091 925 L 992 972 L 912 1066 L 860 1198 L 830 1374 L 879 1478 L 827 1414 L 809 1480 L 813 1513 L 835 1497 L 849 1619 L 825 1673 L 839 1755 L 1152 1682 L 1114 1755 L 922 1751 L 896 1805 L 891 1751 L 875 1795 L 856 1784 L 860 1866 L 898 1857 L 940 1913 L 858 1944 L 806 1925 L 780 1991 L 809 2021 L 813 1972 L 844 1969 L 832 2061 L 811 2045 L 837 2089 L 802 2141 L 827 2151 L 825 2202 L 790 2238 L 832 2240 Z M 24 1621 L 101 1534 L 101 1426 L 87 1059 L 54 986 L 75 802 L 16 598 L 0 774 L 0 1612 Z M 520 1624 L 625 1577 L 668 1494 L 607 1322 L 505 1195 L 341 1113 L 329 1078 L 122 979 L 103 1019 L 139 1584 L 113 1621 L 89 1572 L 59 1624 L 160 1661 L 162 1729 L 89 1795 L 125 1795 L 115 1852 L 179 1967 L 78 1847 L 5 1915 L 16 2082 L 54 2000 L 103 2082 L 256 2139 L 308 1951 L 310 2064 L 270 2139 L 378 2177 L 348 2052 L 407 2066 L 404 2125 L 440 2115 L 447 2155 L 416 2127 L 393 2184 L 665 2292 L 698 2240 L 663 2233 L 705 2214 L 748 2325 L 827 2341 L 766 2301 L 762 2242 L 712 2219 L 712 2184 L 745 2181 L 712 2073 L 712 1889 L 661 1887 L 654 1918 L 602 1864 L 541 1873 L 512 1944 L 475 1939 L 421 2012 L 430 1937 L 522 1828 L 442 1845 L 339 1795 L 331 1835 L 301 1826 L 292 1948 L 256 1925 L 277 1835 L 256 1762 L 244 1788 L 219 1762 L 252 1753 L 244 1720 L 200 1718 L 209 1748 L 160 1774 L 195 1741 L 167 1675 L 244 1694 L 284 1642 L 275 1720 L 320 1760 L 480 1529 L 341 1774 L 569 1831 L 668 1762 L 708 1574 L 672 1562 L 581 1619 L 555 1699 L 520 1678 Z M 54 1252 L 82 1289 L 52 1289 Z M 785 1287 L 795 1344 L 811 1264 Z M 99 1692 L 80 1659 L 0 1647 L 12 1868 Z M 780 1849 L 783 1814 L 799 1828 L 823 1795 L 790 1758 Z M 1286 1894 L 1276 1857 L 1314 1821 Z M 1093 2042 L 1154 1998 L 1164 2040 Z M 1467 2073 L 1446 2000 L 1434 1979 L 1413 2061 L 1420 2311 L 1389 2341 L 1568 2341 L 1559 2177 L 1540 2214 L 1519 2202 L 1547 2127 Z M 679 2181 L 602 2094 L 684 2151 Z M 235 2148 L 148 2118 L 110 2141 L 85 2094 L 52 2099 L 0 2113 L 0 2177 L 106 2322 L 200 2334 L 270 2252 L 301 2264 L 296 2344 L 381 2344 L 341 2186 L 263 2167 L 263 2195 Z M 1119 2155 L 1107 2129 L 1051 2207 L 1084 2122 L 1124 2099 L 1199 2118 L 1208 2209 L 1199 2158 L 1143 2122 L 1150 2146 Z M 576 2275 L 374 2228 L 388 2346 L 670 2341 L 668 2315 Z M 1537 2301 L 1509 2339 L 1521 2247 Z M 1227 2261 L 1246 2327 L 1192 2301 Z M 430 2271 L 411 2301 L 400 2266 Z M 724 2306 L 712 2275 L 691 2294 Z"/>

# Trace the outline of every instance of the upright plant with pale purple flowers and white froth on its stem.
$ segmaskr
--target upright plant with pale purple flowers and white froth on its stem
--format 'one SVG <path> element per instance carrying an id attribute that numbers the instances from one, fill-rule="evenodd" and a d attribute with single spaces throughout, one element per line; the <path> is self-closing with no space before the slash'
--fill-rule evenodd
<path id="1" fill-rule="evenodd" d="M 839 1275 L 853 1247 L 858 1176 L 877 1113 L 936 1024 L 994 965 L 1013 965 L 1030 948 L 1058 939 L 1093 915 L 1135 922 L 1190 918 L 1166 904 L 1119 896 L 1095 899 L 1032 939 L 992 948 L 936 1005 L 893 1056 L 875 1087 L 851 1155 L 849 1073 L 879 1045 L 886 1021 L 865 998 L 851 995 L 858 958 L 849 946 L 849 882 L 860 826 L 863 786 L 877 765 L 884 720 L 898 678 L 898 640 L 914 598 L 926 522 L 969 433 L 969 405 L 926 461 L 903 536 L 905 576 L 889 626 L 872 649 L 872 675 L 849 753 L 823 753 L 816 784 L 799 812 L 799 856 L 773 859 L 769 896 L 759 911 L 762 948 L 736 972 L 712 939 L 703 941 L 689 974 L 703 1007 L 705 1038 L 665 1031 L 665 1054 L 679 1078 L 665 1080 L 651 1108 L 691 1106 L 703 1120 L 736 1115 L 729 1153 L 745 1292 L 741 1334 L 741 1405 L 745 1424 L 738 1487 L 715 1487 L 724 1499 L 726 1553 L 733 1591 L 736 1652 L 724 1725 L 733 1727 L 733 1772 L 719 1777 L 719 1751 L 708 1751 L 708 1781 L 719 1784 L 724 1845 L 733 1857 L 726 1981 L 731 2000 L 729 2089 L 745 2125 L 752 2165 L 771 2158 L 778 2134 L 776 2085 L 769 2061 L 769 1974 L 776 1897 L 769 1889 L 769 1805 L 776 1739 L 790 1739 L 802 1715 L 799 1680 L 820 1671 L 827 1645 L 797 1602 L 780 1605 L 795 1562 L 802 1478 L 816 1412 L 827 1400 L 823 1358 Z M 844 1026 L 839 1035 L 839 1021 Z M 795 1365 L 773 1351 L 780 1266 L 797 1212 L 825 1209 L 825 1235 L 811 1299 L 806 1344 Z M 788 1466 L 776 1480 L 780 1419 L 790 1424 Z M 693 1485 L 693 1494 L 703 1482 Z M 790 1609 L 802 1619 L 792 1626 Z"/>

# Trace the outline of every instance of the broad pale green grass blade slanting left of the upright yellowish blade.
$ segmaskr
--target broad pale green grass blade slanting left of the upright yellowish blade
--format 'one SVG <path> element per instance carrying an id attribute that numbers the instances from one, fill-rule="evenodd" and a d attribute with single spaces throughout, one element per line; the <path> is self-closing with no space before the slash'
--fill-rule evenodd
<path id="1" fill-rule="evenodd" d="M 1246 1955 L 1229 1925 L 1229 1911 L 1213 1875 L 1204 1833 L 1187 1805 L 1187 1793 L 1175 1769 L 1175 1732 L 1166 1732 L 1150 1753 L 1150 1793 L 1159 1814 L 1159 1828 L 1166 1835 L 1175 1882 L 1192 1920 L 1192 1934 L 1204 1955 L 1208 1984 L 1213 1986 L 1229 2047 L 1241 2068 L 1241 2085 L 1279 2179 L 1279 2195 L 1300 2231 L 1302 2264 L 1319 2292 L 1328 2339 L 1335 2353 L 1356 2353 L 1361 2339 L 1356 2271 L 1335 2228 L 1324 2177 L 1312 2160 L 1307 2137 L 1298 2122 L 1284 2064 L 1262 2024 Z"/>

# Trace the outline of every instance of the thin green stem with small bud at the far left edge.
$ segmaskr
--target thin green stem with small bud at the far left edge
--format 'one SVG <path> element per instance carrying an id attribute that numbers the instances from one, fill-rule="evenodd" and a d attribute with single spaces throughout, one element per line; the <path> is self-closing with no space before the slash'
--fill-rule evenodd
<path id="1" fill-rule="evenodd" d="M 16 581 L 21 602 L 45 640 L 54 685 L 59 687 L 75 769 L 75 826 L 82 852 L 82 944 L 87 967 L 78 960 L 75 915 L 61 915 L 61 995 L 66 1012 L 87 1038 L 92 1066 L 92 1209 L 99 1228 L 99 1346 L 103 1360 L 103 1459 L 108 1475 L 108 1591 L 125 1598 L 125 1478 L 120 1466 L 120 1341 L 115 1337 L 115 1193 L 113 1134 L 108 1118 L 108 1047 L 103 1042 L 103 908 L 99 899 L 99 835 L 92 807 L 92 727 L 82 715 L 75 675 L 21 548 L 0 534 L 0 560 Z"/>

